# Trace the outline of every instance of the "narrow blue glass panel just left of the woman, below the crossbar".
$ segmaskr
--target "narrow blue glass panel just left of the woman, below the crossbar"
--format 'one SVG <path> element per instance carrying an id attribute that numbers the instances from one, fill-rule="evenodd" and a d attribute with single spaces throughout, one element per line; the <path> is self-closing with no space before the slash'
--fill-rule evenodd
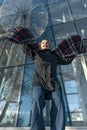
<path id="1" fill-rule="evenodd" d="M 26 61 L 28 61 L 28 59 Z M 25 67 L 17 126 L 29 126 L 31 123 L 33 73 L 33 64 Z"/>

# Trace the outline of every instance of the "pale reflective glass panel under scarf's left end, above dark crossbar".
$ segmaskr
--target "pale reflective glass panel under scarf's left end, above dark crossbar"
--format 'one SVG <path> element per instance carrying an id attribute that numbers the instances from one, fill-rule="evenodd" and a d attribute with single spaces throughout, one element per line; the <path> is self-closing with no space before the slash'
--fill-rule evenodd
<path id="1" fill-rule="evenodd" d="M 25 54 L 20 45 L 11 42 L 3 43 L 5 46 L 1 51 L 0 68 L 22 66 L 25 62 Z M 11 45 L 12 44 L 12 45 Z"/>

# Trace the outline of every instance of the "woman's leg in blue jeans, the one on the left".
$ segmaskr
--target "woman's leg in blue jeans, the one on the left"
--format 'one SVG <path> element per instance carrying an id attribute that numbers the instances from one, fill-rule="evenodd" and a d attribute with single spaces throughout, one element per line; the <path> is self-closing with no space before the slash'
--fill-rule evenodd
<path id="1" fill-rule="evenodd" d="M 45 106 L 44 90 L 36 86 L 33 88 L 33 104 L 31 117 L 31 130 L 45 130 L 43 108 Z"/>

